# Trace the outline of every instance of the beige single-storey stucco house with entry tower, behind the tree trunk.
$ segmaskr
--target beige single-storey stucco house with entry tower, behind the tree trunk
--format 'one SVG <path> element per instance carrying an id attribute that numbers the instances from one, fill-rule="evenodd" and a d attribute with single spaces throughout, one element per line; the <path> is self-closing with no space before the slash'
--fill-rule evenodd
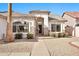
<path id="1" fill-rule="evenodd" d="M 7 12 L 0 12 L 0 39 L 6 37 Z M 13 37 L 21 33 L 23 38 L 27 33 L 36 35 L 51 35 L 51 33 L 64 32 L 66 20 L 61 16 L 53 15 L 49 11 L 30 11 L 29 14 L 12 12 Z"/>

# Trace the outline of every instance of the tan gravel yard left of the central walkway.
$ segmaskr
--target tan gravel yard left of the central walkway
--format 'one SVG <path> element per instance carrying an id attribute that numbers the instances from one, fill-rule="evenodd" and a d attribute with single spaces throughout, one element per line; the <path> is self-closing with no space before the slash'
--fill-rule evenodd
<path id="1" fill-rule="evenodd" d="M 2 56 L 30 56 L 34 41 L 16 40 L 15 42 L 0 44 Z"/>

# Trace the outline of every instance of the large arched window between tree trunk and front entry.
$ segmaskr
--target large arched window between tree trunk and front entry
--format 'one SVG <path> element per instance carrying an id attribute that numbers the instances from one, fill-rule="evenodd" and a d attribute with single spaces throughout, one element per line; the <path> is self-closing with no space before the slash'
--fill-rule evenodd
<path id="1" fill-rule="evenodd" d="M 13 23 L 13 32 L 29 32 L 29 22 L 14 22 Z"/>

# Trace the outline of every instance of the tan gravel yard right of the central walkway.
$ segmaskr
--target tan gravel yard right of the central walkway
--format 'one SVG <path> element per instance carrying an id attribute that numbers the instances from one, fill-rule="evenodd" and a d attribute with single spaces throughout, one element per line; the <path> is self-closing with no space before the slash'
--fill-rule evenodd
<path id="1" fill-rule="evenodd" d="M 44 40 L 51 56 L 79 56 L 79 49 L 71 46 L 69 42 L 78 38 L 61 38 Z"/>

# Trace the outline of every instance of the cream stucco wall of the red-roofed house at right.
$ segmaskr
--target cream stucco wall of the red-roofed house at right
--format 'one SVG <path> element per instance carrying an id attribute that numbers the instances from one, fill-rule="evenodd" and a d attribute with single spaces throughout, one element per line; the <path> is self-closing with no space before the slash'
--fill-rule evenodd
<path id="1" fill-rule="evenodd" d="M 67 14 L 64 14 L 63 15 L 63 18 L 67 20 L 67 22 L 65 22 L 65 26 L 69 25 L 69 26 L 72 26 L 73 28 L 75 27 L 75 24 L 76 24 L 76 19 L 67 15 Z M 72 36 L 75 36 L 74 34 L 74 30 L 72 32 Z"/>

